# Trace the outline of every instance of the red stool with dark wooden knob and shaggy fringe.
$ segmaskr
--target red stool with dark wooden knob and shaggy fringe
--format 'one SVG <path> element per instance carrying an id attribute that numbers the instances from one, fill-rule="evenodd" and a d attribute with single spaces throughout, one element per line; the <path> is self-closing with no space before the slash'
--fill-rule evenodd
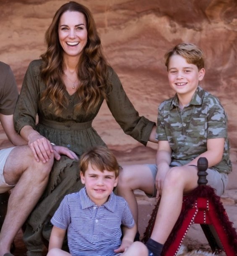
<path id="1" fill-rule="evenodd" d="M 164 244 L 162 256 L 175 256 L 182 244 L 188 229 L 192 224 L 200 224 L 208 240 L 211 250 L 216 253 L 224 251 L 227 256 L 237 256 L 237 233 L 233 223 L 214 189 L 207 186 L 206 169 L 208 162 L 205 157 L 198 159 L 198 187 L 190 195 L 183 197 L 182 211 Z M 151 236 L 156 214 L 159 208 L 157 202 L 148 227 L 144 233 L 143 242 Z"/>

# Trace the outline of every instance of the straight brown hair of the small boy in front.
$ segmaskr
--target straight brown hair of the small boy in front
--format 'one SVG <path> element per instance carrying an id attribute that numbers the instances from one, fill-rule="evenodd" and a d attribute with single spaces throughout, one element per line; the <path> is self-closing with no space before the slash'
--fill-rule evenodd
<path id="1" fill-rule="evenodd" d="M 116 178 L 119 174 L 120 165 L 115 155 L 107 147 L 93 147 L 81 156 L 79 168 L 83 175 L 85 175 L 89 163 L 101 172 L 104 170 L 115 172 Z"/>

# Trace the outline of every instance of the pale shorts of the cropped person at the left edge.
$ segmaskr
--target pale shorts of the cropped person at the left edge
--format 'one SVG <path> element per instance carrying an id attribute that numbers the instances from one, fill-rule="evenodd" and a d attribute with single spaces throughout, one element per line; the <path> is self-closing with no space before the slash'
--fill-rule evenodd
<path id="1" fill-rule="evenodd" d="M 9 147 L 8 149 L 1 149 L 0 150 L 0 194 L 4 193 L 10 189 L 12 189 L 14 186 L 8 185 L 5 182 L 4 176 L 3 176 L 3 168 L 5 166 L 6 160 L 8 158 L 8 155 L 15 147 Z"/>

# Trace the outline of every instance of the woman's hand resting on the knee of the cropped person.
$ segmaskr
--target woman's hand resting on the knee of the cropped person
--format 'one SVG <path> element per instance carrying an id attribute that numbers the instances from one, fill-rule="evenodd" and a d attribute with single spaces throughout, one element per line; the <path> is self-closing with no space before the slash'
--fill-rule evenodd
<path id="1" fill-rule="evenodd" d="M 50 141 L 40 135 L 37 131 L 34 131 L 29 135 L 28 145 L 37 162 L 48 162 L 49 158 L 52 157 L 52 153 L 54 153 Z"/>

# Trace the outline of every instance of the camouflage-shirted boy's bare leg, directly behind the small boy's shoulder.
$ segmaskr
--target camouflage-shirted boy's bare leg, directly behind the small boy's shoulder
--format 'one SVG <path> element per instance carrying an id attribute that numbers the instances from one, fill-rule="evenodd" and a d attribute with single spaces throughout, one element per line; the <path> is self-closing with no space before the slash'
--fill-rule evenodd
<path id="1" fill-rule="evenodd" d="M 135 189 L 153 194 L 154 178 L 147 165 L 126 165 L 120 171 L 117 194 L 127 200 L 133 218 L 138 224 L 138 204 L 134 195 Z"/>

